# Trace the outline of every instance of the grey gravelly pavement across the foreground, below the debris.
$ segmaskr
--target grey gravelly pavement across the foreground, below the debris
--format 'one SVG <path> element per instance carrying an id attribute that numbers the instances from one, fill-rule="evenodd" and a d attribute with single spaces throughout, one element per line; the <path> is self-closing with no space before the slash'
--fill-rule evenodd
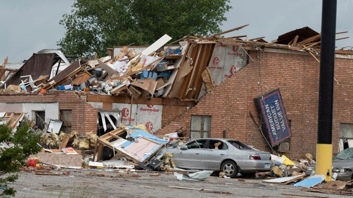
<path id="1" fill-rule="evenodd" d="M 53 173 L 63 171 L 52 170 Z M 90 172 L 114 175 L 98 177 L 86 175 Z M 16 197 L 300 197 L 300 195 L 317 197 L 342 197 L 334 194 L 322 194 L 301 191 L 303 188 L 292 185 L 277 185 L 262 183 L 263 179 L 235 179 L 211 176 L 205 181 L 179 181 L 172 173 L 161 173 L 158 177 L 151 177 L 154 173 L 136 173 L 138 178 L 116 177 L 116 173 L 97 170 L 71 171 L 69 175 L 35 175 L 34 172 L 20 172 L 19 179 L 11 184 L 17 189 Z M 130 173 L 130 175 L 135 175 Z M 244 178 L 243 178 L 244 179 Z M 175 189 L 168 186 L 209 189 L 213 191 L 229 192 L 231 194 L 217 194 L 200 192 L 198 190 Z M 283 195 L 292 194 L 292 195 Z"/>

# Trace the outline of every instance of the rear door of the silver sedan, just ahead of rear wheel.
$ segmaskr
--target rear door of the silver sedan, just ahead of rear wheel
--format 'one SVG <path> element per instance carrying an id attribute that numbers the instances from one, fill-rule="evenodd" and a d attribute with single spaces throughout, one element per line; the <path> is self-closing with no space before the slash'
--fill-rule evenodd
<path id="1" fill-rule="evenodd" d="M 203 169 L 219 170 L 221 162 L 228 153 L 227 145 L 220 140 L 209 140 L 201 154 Z"/>

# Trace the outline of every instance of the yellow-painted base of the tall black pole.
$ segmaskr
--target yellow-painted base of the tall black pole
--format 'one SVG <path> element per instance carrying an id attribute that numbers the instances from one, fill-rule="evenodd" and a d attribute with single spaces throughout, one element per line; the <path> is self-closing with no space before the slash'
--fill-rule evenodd
<path id="1" fill-rule="evenodd" d="M 332 155 L 332 144 L 316 144 L 315 174 L 325 175 L 325 181 L 331 181 Z"/>

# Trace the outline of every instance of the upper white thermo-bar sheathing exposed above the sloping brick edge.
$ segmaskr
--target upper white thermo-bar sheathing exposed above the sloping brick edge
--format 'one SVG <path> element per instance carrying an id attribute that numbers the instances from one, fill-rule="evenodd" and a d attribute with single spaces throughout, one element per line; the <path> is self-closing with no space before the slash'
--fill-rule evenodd
<path id="1" fill-rule="evenodd" d="M 208 69 L 210 70 L 215 86 L 217 87 L 227 80 L 227 78 L 234 75 L 246 63 L 247 55 L 239 45 L 221 45 L 221 43 L 216 43 L 208 64 Z M 202 84 L 199 98 L 205 93 L 206 89 Z"/>

